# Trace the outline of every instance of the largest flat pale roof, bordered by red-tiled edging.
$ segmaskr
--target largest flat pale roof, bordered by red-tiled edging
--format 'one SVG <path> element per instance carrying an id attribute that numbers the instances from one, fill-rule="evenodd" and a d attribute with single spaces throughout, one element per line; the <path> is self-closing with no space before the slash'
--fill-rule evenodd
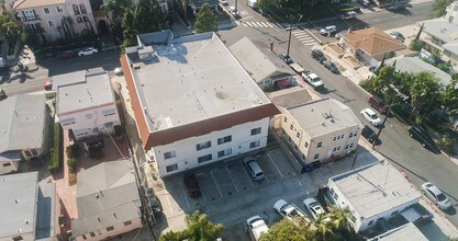
<path id="1" fill-rule="evenodd" d="M 214 33 L 152 46 L 149 61 L 138 53 L 127 55 L 139 66 L 132 72 L 149 131 L 270 104 Z"/>

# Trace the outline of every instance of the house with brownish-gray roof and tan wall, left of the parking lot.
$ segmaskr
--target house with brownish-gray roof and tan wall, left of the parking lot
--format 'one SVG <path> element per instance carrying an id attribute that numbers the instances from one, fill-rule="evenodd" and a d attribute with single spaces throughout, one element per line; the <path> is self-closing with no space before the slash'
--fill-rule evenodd
<path id="1" fill-rule="evenodd" d="M 138 188 L 132 160 L 102 162 L 78 173 L 78 219 L 70 240 L 105 240 L 141 228 Z"/>

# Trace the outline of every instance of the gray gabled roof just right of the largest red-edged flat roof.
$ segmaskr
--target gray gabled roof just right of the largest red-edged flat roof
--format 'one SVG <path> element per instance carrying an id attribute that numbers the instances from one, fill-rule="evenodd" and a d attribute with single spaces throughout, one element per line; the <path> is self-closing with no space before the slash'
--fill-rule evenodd
<path id="1" fill-rule="evenodd" d="M 244 37 L 233 44 L 230 50 L 257 83 L 271 77 L 294 74 L 262 42 Z"/>

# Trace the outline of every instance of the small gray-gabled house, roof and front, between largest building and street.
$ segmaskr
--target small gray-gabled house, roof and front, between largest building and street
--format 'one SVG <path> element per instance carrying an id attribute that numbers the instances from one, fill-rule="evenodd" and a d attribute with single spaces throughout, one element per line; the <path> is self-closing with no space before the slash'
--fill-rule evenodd
<path id="1" fill-rule="evenodd" d="M 294 72 L 265 43 L 244 37 L 230 50 L 264 91 L 293 84 Z"/>

